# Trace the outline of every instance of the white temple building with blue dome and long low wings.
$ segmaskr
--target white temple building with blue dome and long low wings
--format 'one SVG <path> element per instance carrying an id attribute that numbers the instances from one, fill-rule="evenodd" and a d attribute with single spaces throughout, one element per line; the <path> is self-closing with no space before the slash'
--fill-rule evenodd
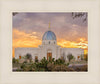
<path id="1" fill-rule="evenodd" d="M 84 55 L 84 49 L 81 48 L 61 48 L 57 45 L 57 39 L 54 32 L 49 28 L 42 37 L 42 45 L 37 48 L 15 48 L 15 58 L 26 56 L 31 54 L 32 59 L 41 60 L 45 57 L 47 60 L 50 58 L 64 58 L 67 61 L 67 55 L 71 53 L 75 60 L 78 60 L 78 56 Z"/>

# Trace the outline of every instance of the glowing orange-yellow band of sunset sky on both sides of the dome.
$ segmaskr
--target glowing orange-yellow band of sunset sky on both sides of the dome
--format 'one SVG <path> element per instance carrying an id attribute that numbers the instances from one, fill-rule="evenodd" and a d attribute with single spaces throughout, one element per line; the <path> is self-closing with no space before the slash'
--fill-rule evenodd
<path id="1" fill-rule="evenodd" d="M 45 33 L 45 32 L 44 32 Z M 42 38 L 38 38 L 37 32 L 25 33 L 24 31 L 19 31 L 16 28 L 13 29 L 13 57 L 14 49 L 16 47 L 38 47 L 42 43 Z M 41 35 L 42 36 L 42 35 Z M 78 38 L 77 42 L 68 41 L 65 39 L 60 39 L 57 37 L 57 44 L 61 47 L 66 48 L 83 48 L 84 53 L 88 51 L 88 41 L 85 38 Z"/>

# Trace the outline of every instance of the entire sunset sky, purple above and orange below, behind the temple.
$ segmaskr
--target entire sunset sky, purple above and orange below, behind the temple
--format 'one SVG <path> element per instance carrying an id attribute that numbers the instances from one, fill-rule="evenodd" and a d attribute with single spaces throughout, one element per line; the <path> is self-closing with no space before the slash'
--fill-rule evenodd
<path id="1" fill-rule="evenodd" d="M 18 13 L 12 16 L 13 57 L 16 47 L 38 47 L 42 36 L 50 28 L 57 44 L 66 48 L 88 49 L 88 24 L 83 17 L 73 19 L 72 13 Z"/>

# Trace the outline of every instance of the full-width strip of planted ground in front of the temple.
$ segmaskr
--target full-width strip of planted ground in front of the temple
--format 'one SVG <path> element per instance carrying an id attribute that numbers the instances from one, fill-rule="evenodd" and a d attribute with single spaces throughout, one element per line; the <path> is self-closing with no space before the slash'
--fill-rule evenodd
<path id="1" fill-rule="evenodd" d="M 46 60 L 42 59 L 40 62 L 23 62 L 13 63 L 13 71 L 88 71 L 86 60 L 65 62 L 61 59 Z"/>

